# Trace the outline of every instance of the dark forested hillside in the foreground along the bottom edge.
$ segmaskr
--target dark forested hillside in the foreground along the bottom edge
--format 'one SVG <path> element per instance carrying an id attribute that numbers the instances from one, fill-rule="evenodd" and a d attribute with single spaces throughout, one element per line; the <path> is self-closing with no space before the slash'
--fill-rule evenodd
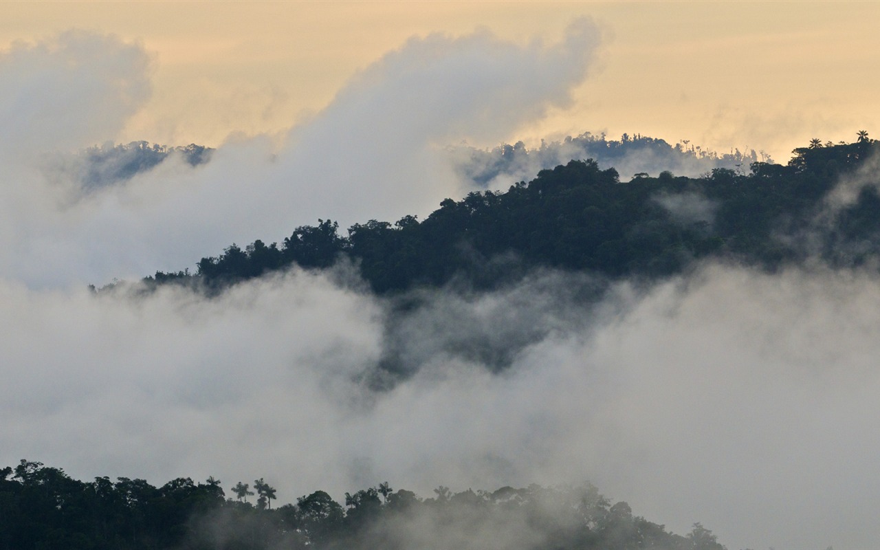
<path id="1" fill-rule="evenodd" d="M 590 484 L 581 487 L 471 489 L 443 486 L 422 499 L 380 483 L 345 505 L 315 491 L 271 506 L 264 480 L 190 478 L 154 487 L 145 480 L 70 478 L 22 460 L 0 469 L 0 548 L 4 550 L 257 550 L 433 548 L 528 550 L 662 548 L 723 550 L 700 524 L 679 536 L 633 515 Z M 256 493 L 256 495 L 255 495 Z M 257 496 L 256 503 L 249 497 Z"/>

